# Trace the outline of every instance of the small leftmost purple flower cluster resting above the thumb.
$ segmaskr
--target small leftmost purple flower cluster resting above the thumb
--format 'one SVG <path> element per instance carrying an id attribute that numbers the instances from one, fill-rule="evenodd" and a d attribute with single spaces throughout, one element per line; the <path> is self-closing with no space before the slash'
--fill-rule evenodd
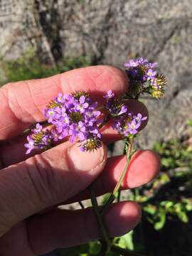
<path id="1" fill-rule="evenodd" d="M 41 124 L 36 124 L 34 129 L 31 129 L 32 134 L 28 135 L 26 143 L 26 154 L 31 153 L 33 149 L 48 149 L 51 146 L 51 136 L 48 130 L 43 131 Z"/>

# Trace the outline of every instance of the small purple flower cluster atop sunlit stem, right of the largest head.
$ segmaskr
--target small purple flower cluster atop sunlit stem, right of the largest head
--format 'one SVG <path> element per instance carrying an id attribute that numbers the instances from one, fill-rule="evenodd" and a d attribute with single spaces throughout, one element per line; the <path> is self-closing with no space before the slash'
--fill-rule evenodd
<path id="1" fill-rule="evenodd" d="M 117 129 L 117 132 L 124 137 L 137 134 L 139 127 L 147 117 L 142 117 L 140 113 L 134 115 L 129 112 L 124 102 L 114 98 L 114 93 L 111 90 L 107 92 L 105 98 L 107 99 L 106 108 L 114 120 L 113 128 Z"/>

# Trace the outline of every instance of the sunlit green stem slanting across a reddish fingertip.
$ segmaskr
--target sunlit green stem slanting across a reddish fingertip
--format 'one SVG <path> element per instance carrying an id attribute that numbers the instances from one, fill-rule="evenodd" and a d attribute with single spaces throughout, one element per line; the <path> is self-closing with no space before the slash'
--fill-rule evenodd
<path id="1" fill-rule="evenodd" d="M 129 147 L 128 147 L 128 150 L 127 150 L 127 161 L 126 161 L 126 164 L 124 166 L 124 170 L 122 171 L 122 174 L 119 178 L 119 181 L 117 182 L 110 198 L 108 198 L 107 202 L 105 203 L 104 206 L 102 206 L 101 210 L 100 210 L 100 214 L 101 215 L 104 215 L 105 212 L 107 211 L 107 209 L 109 208 L 110 204 L 114 201 L 114 198 L 115 198 L 115 194 L 119 191 L 119 188 L 120 186 L 122 185 L 122 181 L 124 180 L 124 176 L 125 174 L 127 173 L 127 167 L 129 165 L 129 161 L 131 159 L 131 152 L 132 152 L 132 145 L 133 145 L 133 141 L 131 140 L 130 143 L 129 143 Z"/>

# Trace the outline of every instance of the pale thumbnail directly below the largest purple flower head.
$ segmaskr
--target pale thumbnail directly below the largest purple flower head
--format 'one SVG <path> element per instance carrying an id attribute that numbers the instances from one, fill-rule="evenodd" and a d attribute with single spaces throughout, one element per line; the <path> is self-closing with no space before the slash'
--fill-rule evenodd
<path id="1" fill-rule="evenodd" d="M 95 151 L 80 151 L 80 148 L 75 144 L 68 149 L 68 157 L 70 165 L 75 171 L 92 171 L 100 165 L 104 159 L 103 146 Z"/>

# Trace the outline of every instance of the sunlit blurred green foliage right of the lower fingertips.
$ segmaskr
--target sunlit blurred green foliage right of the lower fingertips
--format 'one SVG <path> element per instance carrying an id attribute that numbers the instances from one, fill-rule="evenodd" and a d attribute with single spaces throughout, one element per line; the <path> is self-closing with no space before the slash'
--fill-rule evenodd
<path id="1" fill-rule="evenodd" d="M 192 210 L 192 148 L 188 142 L 171 140 L 156 143 L 161 157 L 161 173 L 153 182 L 134 189 L 129 198 L 142 204 L 143 212 L 155 230 L 161 230 L 167 218 L 188 223 Z"/>

